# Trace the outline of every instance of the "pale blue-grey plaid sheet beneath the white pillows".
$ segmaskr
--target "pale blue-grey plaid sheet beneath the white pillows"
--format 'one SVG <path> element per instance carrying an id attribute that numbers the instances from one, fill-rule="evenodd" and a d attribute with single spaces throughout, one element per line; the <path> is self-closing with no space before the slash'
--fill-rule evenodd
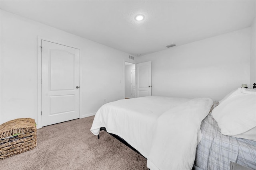
<path id="1" fill-rule="evenodd" d="M 201 123 L 202 140 L 195 165 L 203 170 L 230 170 L 230 161 L 256 169 L 256 141 L 222 135 L 211 113 Z"/>

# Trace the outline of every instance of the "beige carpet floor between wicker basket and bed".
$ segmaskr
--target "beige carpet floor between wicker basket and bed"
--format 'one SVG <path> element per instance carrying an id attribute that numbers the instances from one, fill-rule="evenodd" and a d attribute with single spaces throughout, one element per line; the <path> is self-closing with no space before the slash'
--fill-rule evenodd
<path id="1" fill-rule="evenodd" d="M 146 158 L 106 133 L 90 132 L 94 116 L 38 129 L 37 147 L 0 160 L 1 170 L 148 170 Z"/>

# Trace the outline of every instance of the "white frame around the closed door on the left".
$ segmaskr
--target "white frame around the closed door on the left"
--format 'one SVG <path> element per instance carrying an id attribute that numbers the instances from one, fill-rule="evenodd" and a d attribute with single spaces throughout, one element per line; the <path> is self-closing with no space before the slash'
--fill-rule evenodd
<path id="1" fill-rule="evenodd" d="M 42 84 L 41 84 L 41 79 L 42 79 L 42 53 L 41 53 L 41 45 L 42 45 L 42 40 L 44 41 L 50 41 L 52 43 L 56 43 L 56 44 L 66 44 L 66 43 L 62 43 L 59 41 L 56 41 L 54 39 L 49 39 L 49 38 L 45 38 L 45 37 L 41 37 L 41 36 L 37 36 L 37 126 L 36 128 L 42 128 L 42 115 L 41 115 L 41 111 L 42 111 Z M 72 47 L 72 45 L 64 45 L 67 47 L 71 47 L 71 48 L 75 48 L 78 49 L 76 47 Z M 79 49 L 80 54 L 79 54 L 79 86 L 82 87 L 82 67 L 81 67 L 81 50 Z M 82 106 L 82 90 L 80 88 L 79 90 L 79 118 L 81 118 L 81 106 Z"/>

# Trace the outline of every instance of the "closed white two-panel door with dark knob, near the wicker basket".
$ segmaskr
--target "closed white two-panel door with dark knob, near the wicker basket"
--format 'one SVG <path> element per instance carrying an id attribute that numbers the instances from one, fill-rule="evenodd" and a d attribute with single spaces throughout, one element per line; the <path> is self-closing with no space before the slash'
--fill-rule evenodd
<path id="1" fill-rule="evenodd" d="M 79 118 L 79 55 L 42 40 L 42 126 Z"/>

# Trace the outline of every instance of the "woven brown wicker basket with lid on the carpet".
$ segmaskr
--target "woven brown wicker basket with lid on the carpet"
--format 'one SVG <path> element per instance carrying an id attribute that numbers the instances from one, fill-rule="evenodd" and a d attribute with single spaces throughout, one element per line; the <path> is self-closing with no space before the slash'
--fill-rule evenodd
<path id="1" fill-rule="evenodd" d="M 0 160 L 34 149 L 36 145 L 34 119 L 14 119 L 0 125 Z"/>

